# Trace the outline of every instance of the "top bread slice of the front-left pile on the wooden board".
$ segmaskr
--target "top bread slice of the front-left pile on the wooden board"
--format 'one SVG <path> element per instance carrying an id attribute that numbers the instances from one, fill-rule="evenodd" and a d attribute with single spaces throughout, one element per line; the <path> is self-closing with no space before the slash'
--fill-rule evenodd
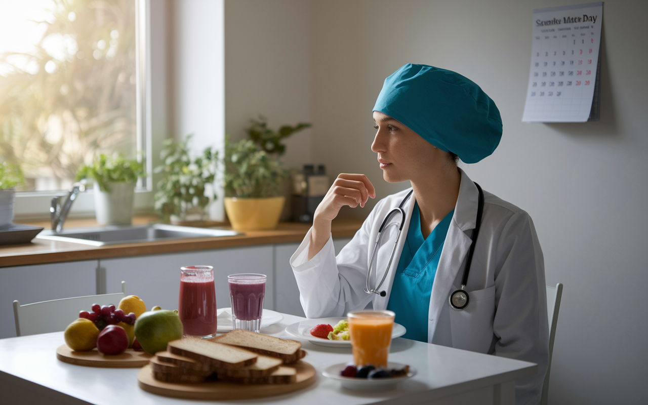
<path id="1" fill-rule="evenodd" d="M 236 369 L 255 364 L 258 355 L 230 345 L 196 338 L 168 342 L 167 351 L 209 364 L 214 369 Z"/>

